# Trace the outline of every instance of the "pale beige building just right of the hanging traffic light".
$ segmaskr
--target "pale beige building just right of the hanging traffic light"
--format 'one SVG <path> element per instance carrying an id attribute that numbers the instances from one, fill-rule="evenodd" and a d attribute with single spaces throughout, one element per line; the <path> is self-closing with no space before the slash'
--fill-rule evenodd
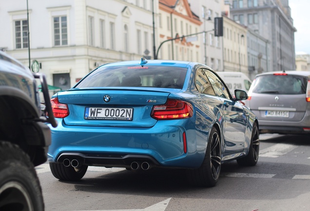
<path id="1" fill-rule="evenodd" d="M 248 75 L 247 28 L 223 15 L 224 71 Z"/>

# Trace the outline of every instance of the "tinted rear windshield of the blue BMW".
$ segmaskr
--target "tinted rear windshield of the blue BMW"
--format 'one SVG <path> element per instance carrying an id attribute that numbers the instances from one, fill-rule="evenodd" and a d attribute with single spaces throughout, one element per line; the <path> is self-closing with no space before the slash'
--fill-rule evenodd
<path id="1" fill-rule="evenodd" d="M 86 87 L 161 87 L 181 89 L 187 68 L 171 66 L 113 66 L 99 67 L 75 88 Z"/>

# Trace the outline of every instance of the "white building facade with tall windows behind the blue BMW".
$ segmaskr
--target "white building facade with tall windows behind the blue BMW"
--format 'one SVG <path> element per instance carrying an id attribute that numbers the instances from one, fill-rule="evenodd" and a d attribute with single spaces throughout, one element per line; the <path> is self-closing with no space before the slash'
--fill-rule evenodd
<path id="1" fill-rule="evenodd" d="M 151 56 L 152 3 L 151 0 L 31 0 L 28 2 L 31 63 L 39 62 L 39 71 L 46 74 L 48 84 L 67 89 L 100 64 L 140 60 L 146 49 Z M 0 48 L 28 66 L 26 1 L 0 0 L 0 5 Z M 154 0 L 155 19 L 157 10 L 158 0 Z M 158 39 L 155 39 L 158 46 L 156 42 Z"/>

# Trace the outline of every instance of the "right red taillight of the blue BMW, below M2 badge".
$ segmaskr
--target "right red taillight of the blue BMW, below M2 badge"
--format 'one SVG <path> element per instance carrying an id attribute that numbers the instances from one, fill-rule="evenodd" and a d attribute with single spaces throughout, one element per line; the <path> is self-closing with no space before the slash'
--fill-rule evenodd
<path id="1" fill-rule="evenodd" d="M 155 105 L 151 113 L 151 117 L 156 120 L 186 119 L 192 116 L 192 105 L 175 99 L 168 99 L 164 105 Z"/>

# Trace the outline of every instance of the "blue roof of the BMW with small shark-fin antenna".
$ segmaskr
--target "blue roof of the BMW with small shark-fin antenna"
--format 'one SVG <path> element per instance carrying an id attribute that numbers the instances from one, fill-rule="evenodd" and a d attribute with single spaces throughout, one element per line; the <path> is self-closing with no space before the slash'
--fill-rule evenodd
<path id="1" fill-rule="evenodd" d="M 186 61 L 175 61 L 175 60 L 147 60 L 147 63 L 140 64 L 141 60 L 135 61 L 124 61 L 124 62 L 115 62 L 103 64 L 101 67 L 108 66 L 127 66 L 127 65 L 162 65 L 162 66 L 177 66 L 177 67 L 187 67 L 188 65 L 194 66 L 198 63 L 186 62 Z"/>

